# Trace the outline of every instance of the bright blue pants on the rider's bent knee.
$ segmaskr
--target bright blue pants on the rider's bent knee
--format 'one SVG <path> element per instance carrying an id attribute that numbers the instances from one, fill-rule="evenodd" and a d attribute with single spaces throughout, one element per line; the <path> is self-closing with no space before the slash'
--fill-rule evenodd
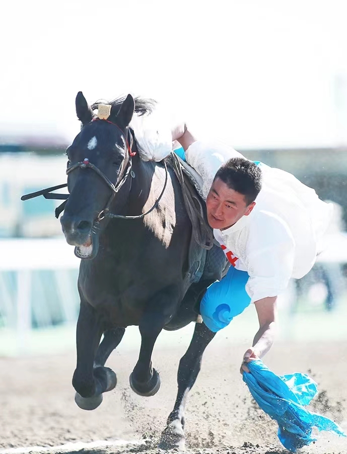
<path id="1" fill-rule="evenodd" d="M 200 304 L 201 317 L 207 328 L 219 331 L 249 306 L 251 298 L 245 289 L 248 278 L 247 271 L 231 266 L 221 281 L 216 280 L 207 288 Z"/>

